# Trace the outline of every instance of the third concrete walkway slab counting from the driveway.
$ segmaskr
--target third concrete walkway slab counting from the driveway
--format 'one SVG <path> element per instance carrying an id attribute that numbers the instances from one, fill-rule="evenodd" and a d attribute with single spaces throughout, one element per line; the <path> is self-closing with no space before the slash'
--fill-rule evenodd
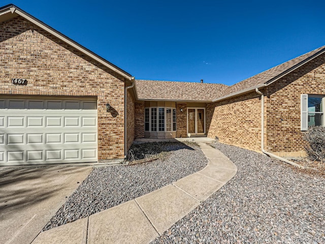
<path id="1" fill-rule="evenodd" d="M 159 234 L 200 204 L 172 185 L 138 197 L 136 202 Z"/>

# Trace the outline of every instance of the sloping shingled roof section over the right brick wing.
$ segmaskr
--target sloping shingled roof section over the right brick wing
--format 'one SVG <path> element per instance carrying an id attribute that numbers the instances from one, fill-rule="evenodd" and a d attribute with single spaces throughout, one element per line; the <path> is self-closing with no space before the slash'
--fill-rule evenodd
<path id="1" fill-rule="evenodd" d="M 257 75 L 254 75 L 248 79 L 245 79 L 243 81 L 240 81 L 232 86 L 229 86 L 228 89 L 224 90 L 221 96 L 216 97 L 215 100 L 218 100 L 223 97 L 229 97 L 233 94 L 238 94 L 240 92 L 244 92 L 245 90 L 249 88 L 256 87 L 258 85 L 268 84 L 273 79 L 277 78 L 278 76 L 281 76 L 285 73 L 289 73 L 291 69 L 294 69 L 295 67 L 299 66 L 300 64 L 306 62 L 309 60 L 309 58 L 312 58 L 314 55 L 317 55 L 318 53 L 325 50 L 325 46 L 319 47 L 313 51 L 310 51 L 308 53 L 305 53 L 299 57 L 296 57 L 294 59 L 291 59 L 281 65 L 275 66 L 269 70 L 266 70 L 262 73 L 259 73 Z"/>

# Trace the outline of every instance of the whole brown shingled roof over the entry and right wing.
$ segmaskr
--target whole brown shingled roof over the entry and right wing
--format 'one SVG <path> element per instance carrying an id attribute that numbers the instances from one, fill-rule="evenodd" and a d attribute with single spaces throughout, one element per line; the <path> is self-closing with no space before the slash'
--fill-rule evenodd
<path id="1" fill-rule="evenodd" d="M 278 77 L 290 73 L 295 68 L 307 63 L 313 57 L 325 52 L 325 46 L 291 59 L 232 86 L 223 84 L 136 80 L 140 100 L 181 100 L 181 101 L 218 101 L 236 96 L 257 87 L 270 84 Z"/>

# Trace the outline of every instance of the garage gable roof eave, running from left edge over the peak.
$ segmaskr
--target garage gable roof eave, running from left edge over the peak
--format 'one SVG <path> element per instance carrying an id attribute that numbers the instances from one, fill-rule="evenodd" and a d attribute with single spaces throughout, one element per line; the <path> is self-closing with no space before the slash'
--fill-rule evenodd
<path id="1" fill-rule="evenodd" d="M 74 47 L 78 51 L 84 53 L 88 57 L 94 59 L 96 62 L 104 65 L 105 67 L 107 67 L 110 70 L 114 71 L 115 73 L 121 75 L 122 77 L 126 78 L 127 80 L 130 80 L 130 81 L 132 80 L 132 76 L 130 74 L 128 74 L 127 72 L 123 71 L 122 69 L 119 69 L 117 66 L 115 66 L 115 65 L 111 64 L 110 62 L 108 62 L 108 60 L 104 59 L 103 57 L 101 57 L 101 56 L 99 56 L 99 55 L 97 55 L 95 53 L 93 53 L 92 51 L 90 51 L 87 48 L 83 47 L 79 43 L 73 41 L 69 37 L 61 34 L 58 31 L 56 31 L 55 29 L 53 29 L 49 25 L 43 23 L 39 19 L 37 19 L 37 18 L 31 16 L 30 14 L 26 13 L 25 11 L 19 9 L 15 5 L 12 5 L 12 4 L 7 5 L 7 6 L 3 7 L 0 11 L 1 11 L 0 16 L 4 15 L 4 14 L 9 14 L 9 13 L 20 15 L 21 17 L 27 19 L 28 21 L 32 22 L 33 24 L 35 24 L 35 25 L 39 26 L 40 28 L 44 29 L 44 31 L 50 33 L 51 35 L 55 36 L 56 38 L 60 39 L 61 41 L 69 44 L 70 46 Z"/>

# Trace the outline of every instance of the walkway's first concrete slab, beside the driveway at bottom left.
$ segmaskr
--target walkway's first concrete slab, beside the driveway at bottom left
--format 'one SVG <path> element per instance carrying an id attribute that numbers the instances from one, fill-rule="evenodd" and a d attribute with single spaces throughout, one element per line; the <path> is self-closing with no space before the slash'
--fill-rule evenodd
<path id="1" fill-rule="evenodd" d="M 31 244 L 86 244 L 88 218 L 41 232 Z"/>

